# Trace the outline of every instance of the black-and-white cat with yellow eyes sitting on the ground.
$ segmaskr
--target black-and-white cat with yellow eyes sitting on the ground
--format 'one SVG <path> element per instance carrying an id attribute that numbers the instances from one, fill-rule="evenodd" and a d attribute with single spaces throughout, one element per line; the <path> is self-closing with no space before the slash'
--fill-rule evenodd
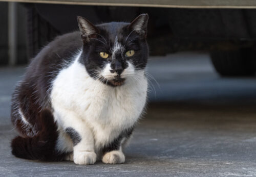
<path id="1" fill-rule="evenodd" d="M 124 163 L 123 147 L 146 104 L 148 15 L 92 24 L 56 37 L 31 61 L 12 95 L 19 136 L 12 154 L 89 165 Z"/>

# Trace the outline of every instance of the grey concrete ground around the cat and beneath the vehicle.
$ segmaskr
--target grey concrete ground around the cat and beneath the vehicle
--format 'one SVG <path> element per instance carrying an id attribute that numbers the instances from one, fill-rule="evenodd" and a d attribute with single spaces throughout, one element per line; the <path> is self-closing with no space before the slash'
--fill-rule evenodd
<path id="1" fill-rule="evenodd" d="M 1 176 L 256 176 L 255 78 L 220 78 L 206 54 L 151 58 L 159 86 L 151 79 L 151 103 L 121 165 L 13 157 L 10 95 L 23 72 L 0 68 Z"/>

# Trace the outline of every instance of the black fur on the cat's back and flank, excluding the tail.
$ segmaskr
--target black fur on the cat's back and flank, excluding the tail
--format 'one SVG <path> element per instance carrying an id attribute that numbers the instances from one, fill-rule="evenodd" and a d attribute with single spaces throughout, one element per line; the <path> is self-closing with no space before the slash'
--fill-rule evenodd
<path id="1" fill-rule="evenodd" d="M 79 32 L 69 33 L 50 42 L 30 63 L 25 78 L 12 95 L 11 121 L 22 136 L 27 136 L 27 132 L 23 129 L 18 108 L 23 111 L 34 131 L 38 131 L 37 121 L 41 110 L 51 110 L 51 81 L 59 70 L 66 67 L 65 63 L 73 60 L 74 53 L 81 47 Z"/>

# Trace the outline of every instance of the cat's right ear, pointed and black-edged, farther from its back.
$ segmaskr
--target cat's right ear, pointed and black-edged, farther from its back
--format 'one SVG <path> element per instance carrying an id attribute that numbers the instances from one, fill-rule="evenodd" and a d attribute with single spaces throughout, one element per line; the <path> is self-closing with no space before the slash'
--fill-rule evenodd
<path id="1" fill-rule="evenodd" d="M 146 37 L 147 21 L 148 21 L 148 15 L 141 14 L 131 22 L 131 24 L 128 26 L 128 28 L 132 31 L 139 33 L 143 37 Z"/>

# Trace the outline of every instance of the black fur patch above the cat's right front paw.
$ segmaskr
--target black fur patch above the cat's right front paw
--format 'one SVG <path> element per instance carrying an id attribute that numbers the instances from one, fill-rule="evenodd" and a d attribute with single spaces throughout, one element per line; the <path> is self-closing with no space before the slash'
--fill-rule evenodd
<path id="1" fill-rule="evenodd" d="M 117 138 L 115 138 L 110 144 L 105 145 L 102 148 L 102 154 L 104 155 L 105 153 L 108 153 L 112 150 L 118 150 L 120 148 L 121 141 L 124 138 L 129 138 L 132 135 L 133 130 L 133 127 L 131 127 L 130 129 L 123 130 Z"/>

